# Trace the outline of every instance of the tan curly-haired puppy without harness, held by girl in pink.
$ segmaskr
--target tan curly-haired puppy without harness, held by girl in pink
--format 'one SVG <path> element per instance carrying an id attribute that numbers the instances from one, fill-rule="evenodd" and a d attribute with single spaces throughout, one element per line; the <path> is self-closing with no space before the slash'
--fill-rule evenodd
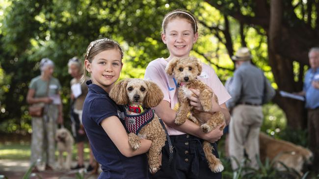
<path id="1" fill-rule="evenodd" d="M 210 87 L 197 79 L 197 76 L 202 72 L 201 62 L 197 58 L 173 58 L 169 61 L 165 71 L 168 75 L 174 75 L 179 84 L 178 98 L 180 108 L 175 118 L 175 124 L 182 125 L 186 121 L 189 112 L 191 113 L 188 119 L 199 125 L 205 133 L 209 133 L 217 126 L 223 124 L 225 118 L 222 112 L 208 113 L 212 109 L 212 100 L 218 103 L 218 99 Z M 187 97 L 194 95 L 189 88 L 200 91 L 199 100 L 206 113 L 205 115 L 209 118 L 204 124 L 200 124 L 199 120 L 197 120 L 202 112 L 192 108 L 189 104 Z M 222 126 L 220 130 L 223 130 L 224 127 Z M 224 167 L 220 160 L 213 155 L 213 146 L 208 141 L 203 142 L 203 149 L 210 169 L 213 172 L 223 171 Z"/>

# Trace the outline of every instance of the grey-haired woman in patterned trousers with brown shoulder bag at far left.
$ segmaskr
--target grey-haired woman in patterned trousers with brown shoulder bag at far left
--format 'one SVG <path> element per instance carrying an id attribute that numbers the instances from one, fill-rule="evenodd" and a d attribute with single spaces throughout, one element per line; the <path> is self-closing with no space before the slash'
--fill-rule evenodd
<path id="1" fill-rule="evenodd" d="M 54 134 L 56 123 L 63 123 L 61 85 L 52 76 L 53 61 L 44 58 L 40 62 L 41 75 L 33 78 L 27 92 L 27 103 L 44 106 L 43 115 L 32 117 L 31 163 L 40 159 L 45 162 L 45 169 L 52 170 L 55 164 Z M 45 155 L 46 154 L 46 155 Z M 44 158 L 46 156 L 46 158 Z M 34 168 L 33 172 L 37 172 Z"/>

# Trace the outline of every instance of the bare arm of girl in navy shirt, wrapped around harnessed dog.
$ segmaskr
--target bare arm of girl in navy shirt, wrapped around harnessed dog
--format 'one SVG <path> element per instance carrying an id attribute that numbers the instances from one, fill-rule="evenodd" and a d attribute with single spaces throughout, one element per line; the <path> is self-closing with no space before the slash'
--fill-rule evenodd
<path id="1" fill-rule="evenodd" d="M 121 154 L 125 157 L 133 157 L 144 154 L 151 147 L 151 140 L 141 139 L 141 148 L 133 150 L 129 144 L 129 136 L 117 116 L 113 115 L 102 120 L 101 126 Z"/>

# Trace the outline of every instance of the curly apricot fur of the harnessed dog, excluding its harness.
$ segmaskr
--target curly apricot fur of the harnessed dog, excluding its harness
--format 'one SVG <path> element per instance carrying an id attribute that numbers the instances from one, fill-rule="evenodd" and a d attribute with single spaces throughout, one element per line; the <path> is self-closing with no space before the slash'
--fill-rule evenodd
<path id="1" fill-rule="evenodd" d="M 163 93 L 153 82 L 143 79 L 125 79 L 119 81 L 110 91 L 109 96 L 119 105 L 145 106 L 146 108 L 156 107 L 163 99 Z M 139 113 L 126 110 L 129 115 Z M 138 136 L 129 134 L 129 143 L 134 150 L 140 148 L 140 137 L 152 140 L 152 145 L 147 152 L 149 170 L 156 173 L 160 169 L 160 152 L 165 145 L 166 134 L 160 124 L 159 117 L 155 114 L 153 120 L 142 127 Z"/>

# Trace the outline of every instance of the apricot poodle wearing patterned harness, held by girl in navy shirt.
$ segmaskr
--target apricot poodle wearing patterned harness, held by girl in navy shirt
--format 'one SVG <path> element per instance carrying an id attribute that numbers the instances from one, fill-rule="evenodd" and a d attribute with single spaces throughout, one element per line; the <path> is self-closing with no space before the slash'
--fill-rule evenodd
<path id="1" fill-rule="evenodd" d="M 165 145 L 166 134 L 159 117 L 151 109 L 160 104 L 163 93 L 153 82 L 143 79 L 124 79 L 110 91 L 109 96 L 118 105 L 125 105 L 125 125 L 129 143 L 134 150 L 140 148 L 140 138 L 152 140 L 146 153 L 149 170 L 156 173 L 161 166 L 160 152 Z"/>

